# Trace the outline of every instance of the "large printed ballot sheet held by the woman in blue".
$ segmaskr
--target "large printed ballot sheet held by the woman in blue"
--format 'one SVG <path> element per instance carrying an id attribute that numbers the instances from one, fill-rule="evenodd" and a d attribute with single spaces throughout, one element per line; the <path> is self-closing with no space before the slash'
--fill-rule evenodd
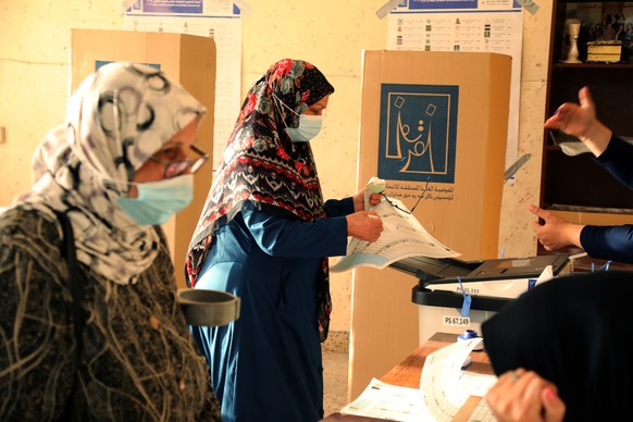
<path id="1" fill-rule="evenodd" d="M 460 253 L 431 236 L 413 214 L 402 211 L 408 210 L 401 201 L 383 199 L 372 210 L 383 220 L 381 237 L 374 243 L 352 237 L 347 245 L 347 255 L 330 268 L 332 272 L 351 270 L 357 265 L 384 269 L 409 257 L 459 257 Z"/>

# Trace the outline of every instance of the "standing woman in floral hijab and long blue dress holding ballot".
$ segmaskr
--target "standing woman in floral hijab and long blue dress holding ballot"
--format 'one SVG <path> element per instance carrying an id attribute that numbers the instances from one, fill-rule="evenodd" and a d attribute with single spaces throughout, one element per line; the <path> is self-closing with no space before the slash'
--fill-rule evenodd
<path id="1" fill-rule="evenodd" d="M 374 241 L 382 232 L 363 193 L 323 202 L 309 140 L 332 92 L 300 60 L 281 60 L 255 83 L 189 246 L 189 285 L 241 298 L 235 322 L 193 327 L 225 421 L 323 417 L 327 257 L 346 253 L 348 235 Z"/>

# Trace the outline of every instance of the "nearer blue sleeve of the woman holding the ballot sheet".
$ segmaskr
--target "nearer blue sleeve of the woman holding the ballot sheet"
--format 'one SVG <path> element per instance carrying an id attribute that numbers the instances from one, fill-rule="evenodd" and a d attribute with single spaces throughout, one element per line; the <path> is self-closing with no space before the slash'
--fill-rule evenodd
<path id="1" fill-rule="evenodd" d="M 345 216 L 306 222 L 250 209 L 244 209 L 241 214 L 259 247 L 270 256 L 321 258 L 347 252 Z"/>

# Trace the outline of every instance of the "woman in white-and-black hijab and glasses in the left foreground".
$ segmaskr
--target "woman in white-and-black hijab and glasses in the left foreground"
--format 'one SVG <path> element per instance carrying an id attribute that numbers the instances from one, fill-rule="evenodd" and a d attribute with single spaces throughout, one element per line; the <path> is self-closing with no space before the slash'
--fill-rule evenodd
<path id="1" fill-rule="evenodd" d="M 34 186 L 0 214 L 0 420 L 219 418 L 159 225 L 191 199 L 204 112 L 161 72 L 111 63 L 38 146 Z M 60 213 L 74 231 L 76 302 Z"/>

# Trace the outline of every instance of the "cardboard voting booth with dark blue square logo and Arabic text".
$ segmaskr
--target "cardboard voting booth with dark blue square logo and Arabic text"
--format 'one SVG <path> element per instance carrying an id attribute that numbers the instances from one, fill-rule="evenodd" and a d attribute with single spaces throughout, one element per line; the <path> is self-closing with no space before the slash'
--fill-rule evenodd
<path id="1" fill-rule="evenodd" d="M 358 186 L 372 176 L 464 260 L 498 256 L 511 58 L 364 51 Z M 412 276 L 355 270 L 350 396 L 419 346 Z"/>

